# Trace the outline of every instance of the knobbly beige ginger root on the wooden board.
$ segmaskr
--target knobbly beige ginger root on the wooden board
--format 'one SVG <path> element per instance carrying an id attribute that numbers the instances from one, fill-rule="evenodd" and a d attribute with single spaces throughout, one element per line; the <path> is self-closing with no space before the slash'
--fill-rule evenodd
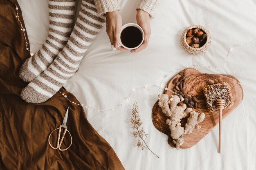
<path id="1" fill-rule="evenodd" d="M 204 120 L 205 115 L 204 113 L 193 111 L 192 108 L 187 108 L 186 104 L 177 106 L 180 102 L 180 97 L 177 95 L 172 95 L 170 99 L 166 94 L 158 95 L 158 97 L 158 106 L 168 117 L 166 124 L 169 126 L 173 143 L 176 144 L 176 149 L 179 149 L 184 144 L 183 136 L 191 134 L 195 128 L 199 130 L 201 127 L 198 124 Z M 184 128 L 181 126 L 180 120 L 188 116 L 189 118 Z"/>

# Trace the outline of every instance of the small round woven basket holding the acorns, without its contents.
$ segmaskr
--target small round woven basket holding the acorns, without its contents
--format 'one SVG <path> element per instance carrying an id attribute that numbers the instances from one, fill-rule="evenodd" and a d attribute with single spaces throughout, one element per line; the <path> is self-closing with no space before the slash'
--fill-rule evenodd
<path id="1" fill-rule="evenodd" d="M 203 46 L 201 46 L 200 48 L 193 48 L 191 46 L 189 46 L 189 44 L 186 43 L 186 33 L 189 29 L 193 29 L 193 28 L 199 28 L 202 31 L 204 31 L 207 35 L 207 40 L 205 42 L 205 44 Z M 208 30 L 206 28 L 204 28 L 203 26 L 200 25 L 191 25 L 189 27 L 187 27 L 182 35 L 181 35 L 181 44 L 183 49 L 185 49 L 186 52 L 188 52 L 191 55 L 200 55 L 205 53 L 205 51 L 207 51 L 207 49 L 209 48 L 210 44 L 211 44 L 211 35 L 208 32 Z"/>

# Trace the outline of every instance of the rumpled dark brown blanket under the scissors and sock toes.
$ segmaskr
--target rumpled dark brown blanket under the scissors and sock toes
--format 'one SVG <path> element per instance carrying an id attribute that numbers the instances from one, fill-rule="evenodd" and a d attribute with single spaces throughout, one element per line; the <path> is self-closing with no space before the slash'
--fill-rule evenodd
<path id="1" fill-rule="evenodd" d="M 16 18 L 15 3 L 18 6 L 16 0 L 0 0 L 0 169 L 124 170 L 111 146 L 92 128 L 81 106 L 70 103 L 60 93 L 43 104 L 28 104 L 20 98 L 27 83 L 18 73 L 29 52 Z M 20 8 L 19 12 L 25 26 Z M 61 91 L 78 102 L 64 88 Z M 62 124 L 67 107 L 67 127 L 73 143 L 61 152 L 50 148 L 47 138 Z M 69 142 L 67 134 L 64 145 Z"/>

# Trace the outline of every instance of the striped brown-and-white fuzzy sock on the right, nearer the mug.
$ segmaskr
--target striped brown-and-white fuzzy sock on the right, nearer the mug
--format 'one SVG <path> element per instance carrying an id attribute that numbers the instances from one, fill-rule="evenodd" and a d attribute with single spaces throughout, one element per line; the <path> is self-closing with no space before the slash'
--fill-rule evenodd
<path id="1" fill-rule="evenodd" d="M 96 37 L 106 17 L 98 15 L 93 0 L 83 0 L 74 29 L 64 49 L 49 67 L 21 92 L 29 103 L 42 103 L 51 98 L 76 73 L 83 55 Z"/>

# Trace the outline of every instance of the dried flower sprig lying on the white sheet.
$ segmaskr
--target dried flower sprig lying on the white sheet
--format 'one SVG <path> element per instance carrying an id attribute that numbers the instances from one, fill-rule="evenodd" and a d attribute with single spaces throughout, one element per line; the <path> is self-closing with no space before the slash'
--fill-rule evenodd
<path id="1" fill-rule="evenodd" d="M 148 137 L 148 134 L 144 131 L 143 128 L 140 129 L 140 126 L 143 122 L 140 120 L 140 117 L 139 117 L 137 103 L 133 104 L 133 106 L 132 106 L 131 123 L 133 125 L 132 128 L 135 129 L 135 131 L 133 132 L 133 136 L 136 138 L 140 138 L 140 139 L 138 139 L 136 146 L 138 146 L 138 148 L 141 147 L 142 150 L 144 150 L 145 148 L 150 150 L 150 148 L 146 144 L 146 139 Z M 150 150 L 150 151 L 155 155 L 155 153 L 152 150 Z M 158 157 L 157 155 L 155 155 L 155 156 Z"/>

